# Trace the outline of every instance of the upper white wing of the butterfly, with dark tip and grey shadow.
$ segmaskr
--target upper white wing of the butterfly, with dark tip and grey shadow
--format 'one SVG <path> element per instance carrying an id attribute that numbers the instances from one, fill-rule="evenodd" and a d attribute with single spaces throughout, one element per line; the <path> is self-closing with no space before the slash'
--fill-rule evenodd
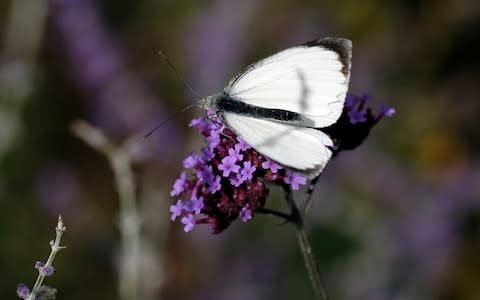
<path id="1" fill-rule="evenodd" d="M 350 78 L 352 43 L 324 38 L 288 48 L 247 67 L 224 92 L 235 100 L 301 114 L 322 128 L 337 121 Z"/>

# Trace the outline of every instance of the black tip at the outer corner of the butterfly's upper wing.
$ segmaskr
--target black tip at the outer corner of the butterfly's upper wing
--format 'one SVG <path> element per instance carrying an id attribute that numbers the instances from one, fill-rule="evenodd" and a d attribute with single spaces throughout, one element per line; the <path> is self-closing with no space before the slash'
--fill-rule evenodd
<path id="1" fill-rule="evenodd" d="M 352 60 L 352 41 L 345 38 L 325 37 L 322 39 L 311 40 L 302 44 L 305 47 L 323 47 L 338 54 L 340 62 L 343 65 L 342 73 L 346 77 L 350 73 L 350 64 Z"/>

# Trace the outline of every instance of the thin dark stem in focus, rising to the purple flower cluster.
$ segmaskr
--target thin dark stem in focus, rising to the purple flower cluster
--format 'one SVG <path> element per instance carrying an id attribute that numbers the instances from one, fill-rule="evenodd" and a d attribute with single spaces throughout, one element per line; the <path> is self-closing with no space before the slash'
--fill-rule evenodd
<path id="1" fill-rule="evenodd" d="M 293 200 L 293 195 L 290 187 L 285 187 L 284 191 L 285 199 L 291 213 L 289 220 L 293 223 L 293 225 L 295 225 L 295 232 L 297 234 L 298 244 L 300 245 L 300 250 L 302 251 L 303 259 L 305 260 L 305 267 L 307 268 L 308 276 L 310 277 L 313 289 L 315 290 L 318 299 L 327 300 L 327 292 L 325 291 L 325 288 L 323 286 L 320 276 L 320 270 L 315 260 L 315 256 L 313 255 L 312 247 L 310 246 L 307 233 L 305 232 L 305 226 L 302 216 L 300 215 L 297 205 Z"/>

